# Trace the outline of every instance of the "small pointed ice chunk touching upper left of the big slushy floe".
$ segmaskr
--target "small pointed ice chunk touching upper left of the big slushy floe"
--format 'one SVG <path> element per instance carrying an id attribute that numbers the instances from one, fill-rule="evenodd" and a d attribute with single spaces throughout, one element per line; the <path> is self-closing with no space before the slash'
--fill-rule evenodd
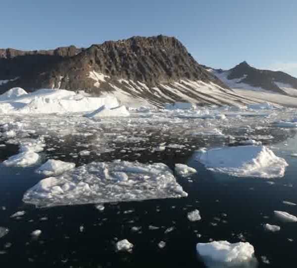
<path id="1" fill-rule="evenodd" d="M 67 170 L 75 168 L 74 163 L 63 162 L 60 160 L 49 159 L 41 167 L 39 167 L 35 172 L 43 174 L 45 176 L 57 176 L 64 173 Z"/>

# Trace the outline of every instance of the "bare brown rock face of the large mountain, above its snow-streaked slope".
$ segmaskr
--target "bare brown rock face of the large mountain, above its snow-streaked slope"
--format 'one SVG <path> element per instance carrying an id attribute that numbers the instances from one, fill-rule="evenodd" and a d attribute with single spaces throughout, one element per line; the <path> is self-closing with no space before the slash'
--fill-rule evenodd
<path id="1" fill-rule="evenodd" d="M 181 79 L 227 88 L 174 37 L 135 36 L 87 49 L 70 46 L 48 51 L 0 50 L 0 93 L 16 86 L 28 92 L 61 88 L 100 94 L 117 87 L 131 93 L 131 81 L 154 87 Z"/>

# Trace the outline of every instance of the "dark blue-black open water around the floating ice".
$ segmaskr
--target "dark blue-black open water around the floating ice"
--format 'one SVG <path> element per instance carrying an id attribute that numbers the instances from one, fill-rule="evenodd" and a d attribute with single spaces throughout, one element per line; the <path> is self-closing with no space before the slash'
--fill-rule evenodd
<path id="1" fill-rule="evenodd" d="M 150 145 L 166 139 L 168 141 L 166 136 L 155 136 L 156 138 L 150 138 Z M 276 149 L 276 153 L 283 156 L 290 166 L 285 177 L 274 180 L 274 185 L 258 178 L 213 176 L 191 159 L 195 149 L 209 144 L 216 146 L 228 143 L 226 139 L 193 137 L 193 140 L 185 142 L 189 143 L 185 148 L 167 148 L 162 152 L 151 152 L 148 142 L 116 143 L 109 144 L 114 148 L 112 152 L 100 155 L 91 153 L 90 156 L 78 158 L 72 158 L 69 152 L 90 148 L 77 147 L 70 137 L 64 141 L 49 139 L 46 149 L 54 145 L 56 150 L 45 150 L 44 158 L 56 157 L 76 162 L 77 165 L 118 158 L 144 163 L 164 162 L 171 168 L 175 163 L 188 163 L 199 171 L 192 176 L 193 182 L 177 178 L 189 194 L 188 198 L 105 204 L 105 210 L 100 212 L 93 204 L 52 208 L 26 205 L 22 203 L 24 192 L 43 177 L 33 173 L 36 167 L 1 166 L 0 207 L 5 207 L 5 210 L 0 210 L 0 226 L 8 227 L 9 233 L 0 238 L 0 267 L 203 268 L 203 263 L 197 258 L 196 244 L 213 239 L 248 241 L 255 248 L 258 267 L 295 268 L 297 224 L 280 223 L 273 216 L 273 210 L 284 210 L 297 215 L 297 206 L 282 203 L 283 200 L 297 203 L 297 158 L 291 157 L 286 149 L 296 149 L 297 138 L 290 138 L 294 136 L 293 133 L 288 136 L 288 146 L 283 146 L 284 142 L 278 144 L 280 149 Z M 274 142 L 282 141 L 288 136 L 279 136 Z M 180 140 L 174 140 L 173 137 L 170 142 L 181 144 Z M 193 144 L 195 148 L 192 147 Z M 132 153 L 119 152 L 131 146 L 147 149 Z M 15 154 L 17 148 L 11 145 L 0 150 L 1 159 L 5 159 Z M 187 213 L 196 208 L 202 219 L 190 222 Z M 26 214 L 19 219 L 9 217 L 18 210 L 25 210 Z M 280 225 L 281 231 L 265 232 L 262 227 L 264 223 Z M 149 225 L 159 229 L 149 230 Z M 80 226 L 84 226 L 83 232 L 80 231 Z M 132 231 L 133 226 L 141 227 L 140 231 Z M 170 227 L 174 229 L 166 233 L 165 230 Z M 33 239 L 30 234 L 36 229 L 42 230 L 42 234 L 38 239 Z M 116 253 L 114 245 L 117 239 L 128 239 L 133 243 L 133 252 Z M 165 248 L 158 248 L 160 241 L 166 242 Z M 262 263 L 261 256 L 266 256 L 270 264 Z"/>

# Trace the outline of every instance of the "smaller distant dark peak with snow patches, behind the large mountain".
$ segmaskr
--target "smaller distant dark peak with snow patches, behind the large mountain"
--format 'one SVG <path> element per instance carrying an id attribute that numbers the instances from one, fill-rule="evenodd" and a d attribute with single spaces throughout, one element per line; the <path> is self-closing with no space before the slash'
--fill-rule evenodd
<path id="1" fill-rule="evenodd" d="M 261 70 L 247 62 L 229 70 L 208 69 L 230 88 L 270 91 L 297 97 L 297 78 L 282 72 Z"/>

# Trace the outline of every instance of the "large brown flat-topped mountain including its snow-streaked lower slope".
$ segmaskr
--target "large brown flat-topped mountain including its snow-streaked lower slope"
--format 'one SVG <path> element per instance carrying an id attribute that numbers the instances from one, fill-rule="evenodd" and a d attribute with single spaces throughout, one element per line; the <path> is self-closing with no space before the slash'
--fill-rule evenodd
<path id="1" fill-rule="evenodd" d="M 89 48 L 0 50 L 0 93 L 12 87 L 108 92 L 120 101 L 154 105 L 250 103 L 199 65 L 174 37 L 135 36 Z"/>

